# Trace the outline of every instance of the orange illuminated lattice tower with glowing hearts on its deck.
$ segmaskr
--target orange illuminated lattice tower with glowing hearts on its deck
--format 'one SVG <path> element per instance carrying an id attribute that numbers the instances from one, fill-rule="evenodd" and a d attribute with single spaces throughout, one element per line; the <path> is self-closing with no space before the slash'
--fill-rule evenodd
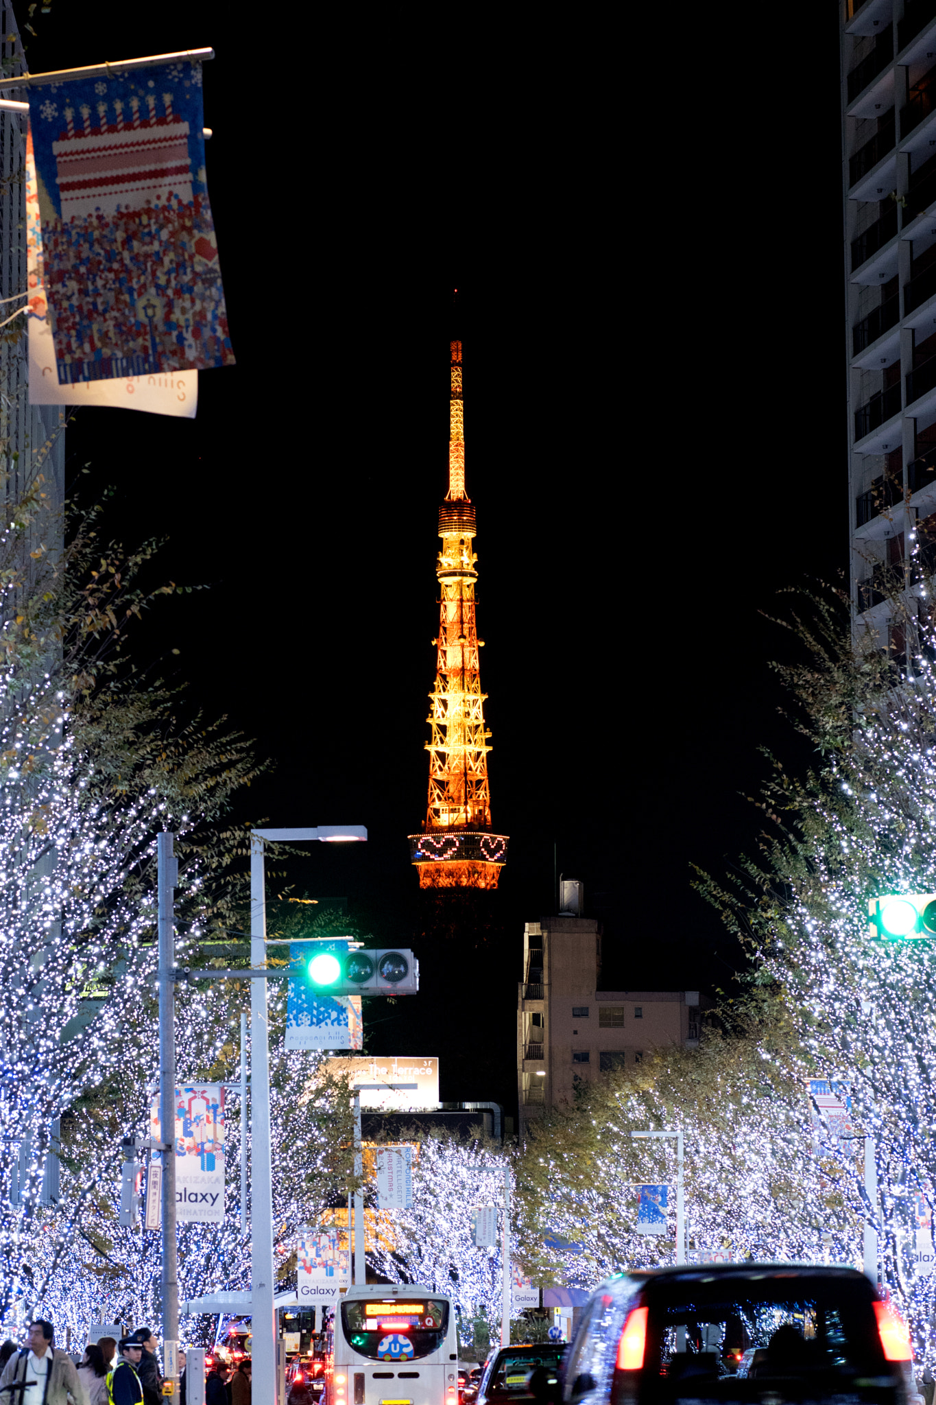
<path id="1" fill-rule="evenodd" d="M 410 857 L 421 888 L 497 888 L 507 835 L 491 833 L 491 791 L 487 780 L 490 732 L 474 620 L 474 507 L 464 495 L 464 422 L 462 412 L 462 343 L 452 341 L 449 409 L 449 490 L 439 507 L 442 551 L 439 636 L 435 687 L 429 693 L 432 739 L 429 802 L 421 835 L 410 835 Z"/>

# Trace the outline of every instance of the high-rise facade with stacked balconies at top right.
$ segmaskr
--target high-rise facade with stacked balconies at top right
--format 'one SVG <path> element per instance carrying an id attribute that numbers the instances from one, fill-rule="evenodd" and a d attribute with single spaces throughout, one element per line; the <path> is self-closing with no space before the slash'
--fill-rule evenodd
<path id="1" fill-rule="evenodd" d="M 912 532 L 936 566 L 936 0 L 841 4 L 852 596 L 902 662 Z"/>

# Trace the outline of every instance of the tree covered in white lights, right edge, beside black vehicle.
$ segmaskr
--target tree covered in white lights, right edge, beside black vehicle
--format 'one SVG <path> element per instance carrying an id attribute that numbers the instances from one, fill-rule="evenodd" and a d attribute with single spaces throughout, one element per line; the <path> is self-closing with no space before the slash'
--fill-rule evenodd
<path id="1" fill-rule="evenodd" d="M 915 1263 L 936 1205 L 936 944 L 869 922 L 885 895 L 936 892 L 936 607 L 916 534 L 890 582 L 890 625 L 853 622 L 835 590 L 787 628 L 798 662 L 779 667 L 791 719 L 814 754 L 779 762 L 756 799 L 759 853 L 728 885 L 702 878 L 747 943 L 755 979 L 791 1021 L 787 1068 L 850 1083 L 856 1137 L 871 1137 L 880 1196 L 862 1159 L 827 1142 L 852 1213 L 878 1234 L 883 1281 L 918 1353 L 933 1354 L 933 1277 Z M 857 1255 L 860 1263 L 860 1253 Z"/>

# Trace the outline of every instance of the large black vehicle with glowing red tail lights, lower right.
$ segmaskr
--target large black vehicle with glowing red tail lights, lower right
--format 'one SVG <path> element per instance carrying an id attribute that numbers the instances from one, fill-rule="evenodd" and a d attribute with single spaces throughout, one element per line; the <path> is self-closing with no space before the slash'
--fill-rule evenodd
<path id="1" fill-rule="evenodd" d="M 915 1405 L 909 1333 L 856 1269 L 679 1264 L 617 1274 L 582 1311 L 561 1405 Z"/>

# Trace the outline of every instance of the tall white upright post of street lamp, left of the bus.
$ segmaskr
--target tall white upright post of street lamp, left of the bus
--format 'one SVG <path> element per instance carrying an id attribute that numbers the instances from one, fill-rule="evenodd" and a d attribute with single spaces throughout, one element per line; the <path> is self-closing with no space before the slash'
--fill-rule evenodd
<path id="1" fill-rule="evenodd" d="M 264 840 L 250 844 L 250 964 L 267 962 L 267 895 Z M 276 1399 L 276 1314 L 274 1311 L 274 1211 L 269 1152 L 269 1035 L 267 982 L 250 982 L 250 1228 L 253 1375 L 258 1401 Z"/>

